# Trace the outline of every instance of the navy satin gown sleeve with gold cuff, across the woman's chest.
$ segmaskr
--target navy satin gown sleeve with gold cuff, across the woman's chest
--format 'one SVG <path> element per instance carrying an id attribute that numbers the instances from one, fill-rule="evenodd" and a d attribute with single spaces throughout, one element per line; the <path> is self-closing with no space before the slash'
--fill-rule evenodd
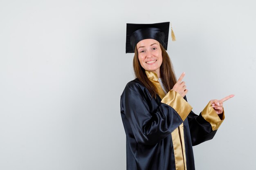
<path id="1" fill-rule="evenodd" d="M 121 115 L 126 134 L 129 129 L 137 143 L 154 145 L 182 124 L 192 107 L 174 91 L 167 93 L 159 106 L 155 103 L 156 109 L 152 108 L 155 99 L 147 97 L 136 85 L 127 84 L 121 95 Z"/>

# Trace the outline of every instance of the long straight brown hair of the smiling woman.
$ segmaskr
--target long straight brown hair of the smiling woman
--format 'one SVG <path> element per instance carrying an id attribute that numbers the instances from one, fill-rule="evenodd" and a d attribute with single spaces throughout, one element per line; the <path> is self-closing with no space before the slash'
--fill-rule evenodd
<path id="1" fill-rule="evenodd" d="M 166 88 L 166 91 L 170 91 L 175 85 L 175 83 L 177 82 L 177 80 L 176 80 L 176 76 L 174 74 L 173 66 L 168 53 L 165 51 L 162 44 L 160 44 L 160 48 L 162 50 L 162 57 L 163 57 L 163 61 L 160 66 L 160 74 L 163 80 L 164 87 Z M 157 89 L 155 88 L 153 83 L 150 82 L 150 80 L 148 79 L 145 73 L 145 69 L 139 63 L 137 46 L 135 46 L 135 53 L 133 58 L 133 69 L 134 69 L 135 77 L 138 78 L 139 81 L 148 89 L 151 96 L 156 98 Z"/>

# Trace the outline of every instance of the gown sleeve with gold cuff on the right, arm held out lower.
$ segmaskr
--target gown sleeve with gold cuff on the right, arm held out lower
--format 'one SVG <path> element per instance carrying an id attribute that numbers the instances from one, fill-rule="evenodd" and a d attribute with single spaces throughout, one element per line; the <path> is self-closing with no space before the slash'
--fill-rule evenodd
<path id="1" fill-rule="evenodd" d="M 184 99 L 186 99 L 186 96 Z M 219 116 L 209 102 L 199 115 L 196 115 L 191 110 L 187 119 L 189 121 L 192 145 L 195 146 L 214 137 L 225 119 L 225 115 L 223 110 L 223 113 Z"/>

